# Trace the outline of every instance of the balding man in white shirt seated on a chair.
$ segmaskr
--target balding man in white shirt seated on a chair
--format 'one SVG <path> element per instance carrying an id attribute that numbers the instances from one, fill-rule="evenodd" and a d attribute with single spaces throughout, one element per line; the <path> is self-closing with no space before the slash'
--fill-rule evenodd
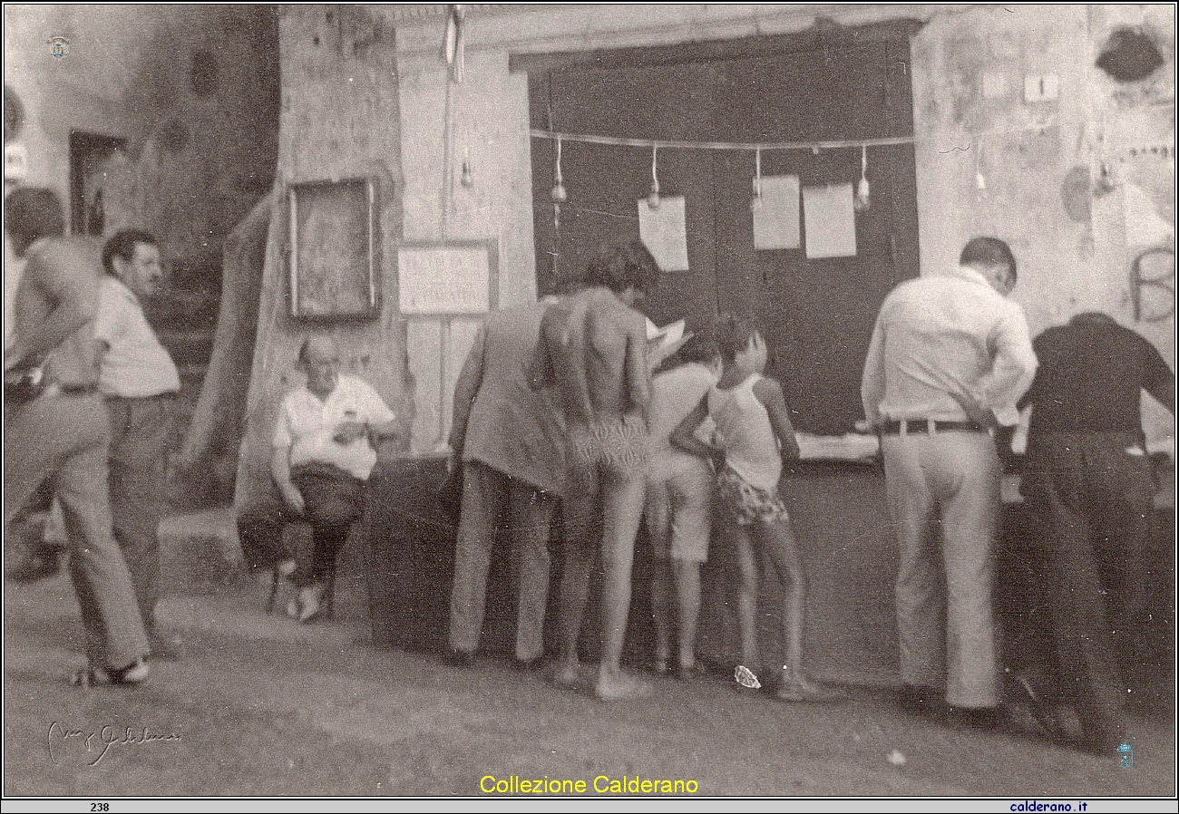
<path id="1" fill-rule="evenodd" d="M 288 613 L 308 622 L 317 616 L 336 554 L 363 511 L 364 483 L 376 464 L 373 444 L 397 430 L 393 411 L 367 382 L 340 373 L 331 338 L 307 339 L 298 360 L 307 384 L 283 398 L 270 461 L 282 503 L 245 510 L 237 530 L 252 569 L 272 568 L 275 585 L 289 575 L 299 587 Z M 292 521 L 310 523 L 315 543 L 310 564 L 297 570 L 282 541 L 283 525 Z"/>

